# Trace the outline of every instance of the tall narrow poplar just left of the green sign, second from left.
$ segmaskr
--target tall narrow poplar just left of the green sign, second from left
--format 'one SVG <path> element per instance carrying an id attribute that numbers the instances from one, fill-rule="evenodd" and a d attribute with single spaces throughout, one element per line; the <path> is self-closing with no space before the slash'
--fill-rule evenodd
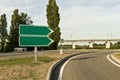
<path id="1" fill-rule="evenodd" d="M 13 15 L 11 16 L 11 26 L 10 26 L 10 45 L 12 49 L 18 47 L 18 37 L 19 37 L 19 24 L 20 24 L 20 15 L 18 9 L 15 9 Z"/>

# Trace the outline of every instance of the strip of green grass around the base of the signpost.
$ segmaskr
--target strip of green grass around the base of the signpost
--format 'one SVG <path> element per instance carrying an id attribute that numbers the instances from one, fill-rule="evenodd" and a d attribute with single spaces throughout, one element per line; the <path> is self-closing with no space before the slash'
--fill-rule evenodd
<path id="1" fill-rule="evenodd" d="M 46 63 L 53 60 L 53 58 L 44 56 L 38 56 L 38 63 L 34 63 L 34 57 L 25 57 L 25 58 L 10 58 L 8 60 L 0 60 L 0 66 L 3 65 L 37 65 L 39 63 Z"/>

